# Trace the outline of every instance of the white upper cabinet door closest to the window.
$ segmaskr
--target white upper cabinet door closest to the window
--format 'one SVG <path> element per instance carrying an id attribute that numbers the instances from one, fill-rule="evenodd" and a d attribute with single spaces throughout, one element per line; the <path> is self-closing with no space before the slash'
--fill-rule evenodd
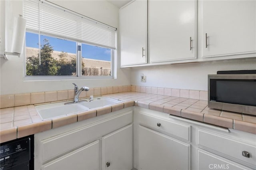
<path id="1" fill-rule="evenodd" d="M 120 9 L 121 66 L 147 63 L 146 0 L 136 0 Z"/>

